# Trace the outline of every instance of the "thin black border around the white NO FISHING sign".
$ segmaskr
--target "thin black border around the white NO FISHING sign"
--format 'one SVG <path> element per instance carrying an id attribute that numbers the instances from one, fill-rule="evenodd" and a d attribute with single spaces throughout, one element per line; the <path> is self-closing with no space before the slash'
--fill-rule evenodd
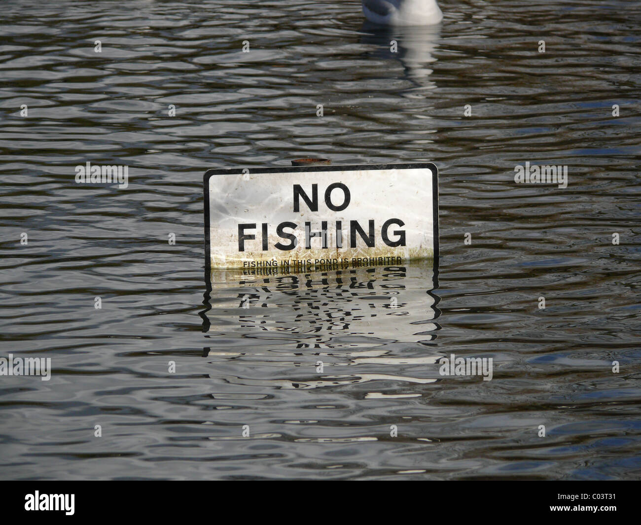
<path id="1" fill-rule="evenodd" d="M 392 164 L 329 164 L 313 166 L 274 166 L 269 168 L 226 168 L 208 169 L 203 175 L 204 197 L 204 251 L 205 251 L 205 278 L 208 279 L 212 272 L 212 257 L 210 255 L 210 216 L 209 216 L 209 181 L 215 175 L 242 175 L 249 170 L 252 175 L 260 173 L 301 173 L 316 171 L 374 171 L 374 170 L 405 170 L 405 169 L 430 169 L 432 172 L 432 197 L 433 197 L 433 224 L 434 224 L 434 263 L 435 275 L 438 273 L 438 168 L 432 162 L 392 163 Z"/>

